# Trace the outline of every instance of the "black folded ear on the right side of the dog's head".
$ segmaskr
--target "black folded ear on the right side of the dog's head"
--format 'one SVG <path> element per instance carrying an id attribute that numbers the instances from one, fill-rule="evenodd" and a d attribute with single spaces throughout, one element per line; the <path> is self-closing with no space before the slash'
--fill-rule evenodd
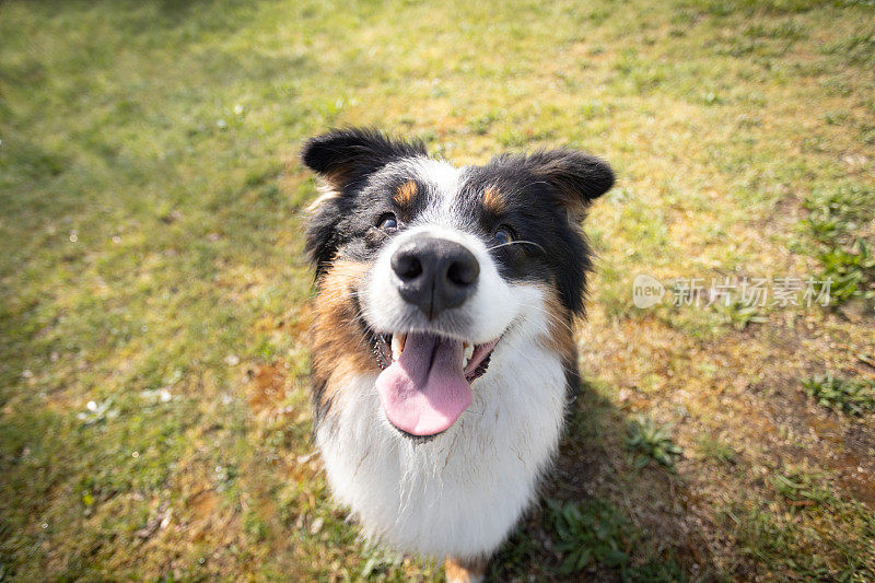
<path id="1" fill-rule="evenodd" d="M 526 159 L 525 165 L 537 178 L 552 186 L 558 202 L 572 213 L 586 210 L 593 200 L 614 186 L 614 171 L 607 162 L 575 150 L 535 152 Z"/>

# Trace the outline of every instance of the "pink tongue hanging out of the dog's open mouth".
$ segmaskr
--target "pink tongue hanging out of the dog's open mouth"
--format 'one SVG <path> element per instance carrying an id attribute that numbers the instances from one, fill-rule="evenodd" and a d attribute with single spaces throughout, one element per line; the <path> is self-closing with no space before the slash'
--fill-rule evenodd
<path id="1" fill-rule="evenodd" d="M 472 399 L 462 355 L 460 341 L 408 334 L 401 355 L 376 380 L 392 424 L 413 435 L 434 435 L 455 423 Z"/>

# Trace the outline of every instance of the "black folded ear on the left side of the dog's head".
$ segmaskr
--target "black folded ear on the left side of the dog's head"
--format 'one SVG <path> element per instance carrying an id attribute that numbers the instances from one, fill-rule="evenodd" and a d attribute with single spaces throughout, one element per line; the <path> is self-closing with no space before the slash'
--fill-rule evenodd
<path id="1" fill-rule="evenodd" d="M 393 140 L 374 129 L 336 129 L 304 144 L 301 160 L 338 194 L 393 160 L 425 155 L 422 142 Z"/>

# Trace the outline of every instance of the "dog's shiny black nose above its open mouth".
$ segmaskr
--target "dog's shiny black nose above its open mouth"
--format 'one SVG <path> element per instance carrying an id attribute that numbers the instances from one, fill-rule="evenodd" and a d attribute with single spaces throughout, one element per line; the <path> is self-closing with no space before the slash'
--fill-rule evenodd
<path id="1" fill-rule="evenodd" d="M 433 319 L 460 306 L 474 292 L 480 264 L 471 252 L 445 238 L 417 238 L 392 256 L 398 292 Z"/>

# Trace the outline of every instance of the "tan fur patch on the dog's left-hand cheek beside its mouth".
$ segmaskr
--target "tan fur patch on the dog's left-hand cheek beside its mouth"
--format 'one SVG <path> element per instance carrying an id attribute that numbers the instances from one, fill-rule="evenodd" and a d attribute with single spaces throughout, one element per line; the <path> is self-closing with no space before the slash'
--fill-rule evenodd
<path id="1" fill-rule="evenodd" d="M 319 282 L 313 323 L 313 376 L 324 383 L 322 404 L 342 400 L 343 378 L 380 366 L 357 318 L 355 293 L 369 266 L 337 261 Z"/>

